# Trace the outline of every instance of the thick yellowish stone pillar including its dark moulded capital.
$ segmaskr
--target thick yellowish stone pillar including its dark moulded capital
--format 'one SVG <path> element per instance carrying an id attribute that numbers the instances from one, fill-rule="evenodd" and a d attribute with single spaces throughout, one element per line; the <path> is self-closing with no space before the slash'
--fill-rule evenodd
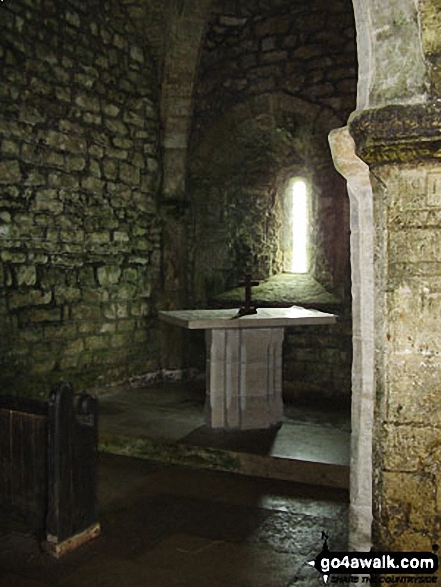
<path id="1" fill-rule="evenodd" d="M 441 106 L 356 112 L 349 130 L 374 193 L 374 546 L 430 551 L 441 515 Z"/>

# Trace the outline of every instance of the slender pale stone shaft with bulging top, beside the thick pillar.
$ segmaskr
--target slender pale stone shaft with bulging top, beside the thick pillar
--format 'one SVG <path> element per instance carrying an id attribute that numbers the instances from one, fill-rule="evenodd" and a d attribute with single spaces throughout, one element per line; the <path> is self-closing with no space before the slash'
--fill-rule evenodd
<path id="1" fill-rule="evenodd" d="M 374 412 L 374 221 L 369 168 L 347 128 L 329 136 L 335 168 L 348 182 L 352 275 L 352 434 L 349 548 L 371 548 Z"/>

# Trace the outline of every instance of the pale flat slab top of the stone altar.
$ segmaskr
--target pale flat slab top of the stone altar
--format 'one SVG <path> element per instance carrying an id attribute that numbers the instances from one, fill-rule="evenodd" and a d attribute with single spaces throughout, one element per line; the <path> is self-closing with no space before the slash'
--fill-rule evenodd
<path id="1" fill-rule="evenodd" d="M 161 320 L 192 330 L 213 328 L 280 328 L 307 324 L 333 324 L 335 314 L 307 310 L 300 306 L 290 308 L 258 308 L 257 314 L 238 316 L 239 309 L 227 310 L 173 310 L 159 312 Z"/>

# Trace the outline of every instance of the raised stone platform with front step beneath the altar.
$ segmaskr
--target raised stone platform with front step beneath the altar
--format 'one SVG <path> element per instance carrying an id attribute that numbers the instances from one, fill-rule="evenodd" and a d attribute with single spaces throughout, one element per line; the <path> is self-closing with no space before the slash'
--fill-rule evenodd
<path id="1" fill-rule="evenodd" d="M 281 428 L 223 432 L 204 425 L 202 383 L 114 390 L 100 396 L 100 448 L 179 465 L 347 488 L 349 406 L 285 402 Z"/>

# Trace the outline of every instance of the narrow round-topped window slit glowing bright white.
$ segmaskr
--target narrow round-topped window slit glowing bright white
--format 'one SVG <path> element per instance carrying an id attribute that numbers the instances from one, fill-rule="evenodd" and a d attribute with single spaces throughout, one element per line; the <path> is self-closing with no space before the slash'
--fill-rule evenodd
<path id="1" fill-rule="evenodd" d="M 306 184 L 298 180 L 292 186 L 292 264 L 293 273 L 307 273 L 306 255 L 308 197 Z"/>

